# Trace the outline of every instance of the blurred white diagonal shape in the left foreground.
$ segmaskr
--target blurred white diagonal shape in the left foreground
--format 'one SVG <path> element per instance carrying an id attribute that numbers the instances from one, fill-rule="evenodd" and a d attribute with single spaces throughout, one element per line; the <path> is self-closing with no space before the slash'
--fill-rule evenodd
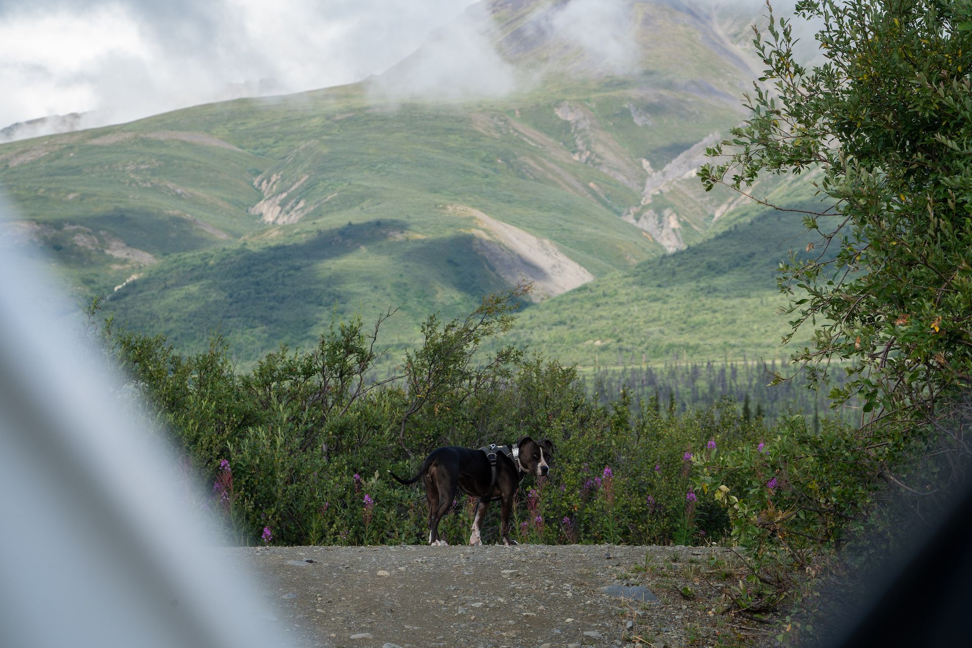
<path id="1" fill-rule="evenodd" d="M 10 218 L 0 198 L 0 646 L 290 645 Z"/>

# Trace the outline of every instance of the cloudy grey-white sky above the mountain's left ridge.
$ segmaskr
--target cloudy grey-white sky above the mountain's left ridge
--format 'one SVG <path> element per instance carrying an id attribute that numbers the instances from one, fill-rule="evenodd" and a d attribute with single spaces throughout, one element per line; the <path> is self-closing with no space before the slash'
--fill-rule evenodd
<path id="1" fill-rule="evenodd" d="M 472 1 L 0 0 L 0 127 L 359 81 Z"/>

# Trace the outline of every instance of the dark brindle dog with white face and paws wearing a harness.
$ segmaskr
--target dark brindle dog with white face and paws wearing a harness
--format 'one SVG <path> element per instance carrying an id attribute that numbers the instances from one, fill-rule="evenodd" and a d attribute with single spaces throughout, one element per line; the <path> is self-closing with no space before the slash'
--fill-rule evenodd
<path id="1" fill-rule="evenodd" d="M 496 472 L 490 461 L 495 455 Z M 402 479 L 389 471 L 399 483 L 414 484 L 425 477 L 426 496 L 429 499 L 429 544 L 446 545 L 438 537 L 438 522 L 452 506 L 456 492 L 462 489 L 468 495 L 479 497 L 472 518 L 470 545 L 481 545 L 480 529 L 490 501 L 502 500 L 501 533 L 503 544 L 516 544 L 509 537 L 509 512 L 513 508 L 513 495 L 526 475 L 544 477 L 550 469 L 553 443 L 549 439 L 535 441 L 524 436 L 519 443 L 506 446 L 490 446 L 474 450 L 461 446 L 445 446 L 435 449 L 411 479 Z"/>

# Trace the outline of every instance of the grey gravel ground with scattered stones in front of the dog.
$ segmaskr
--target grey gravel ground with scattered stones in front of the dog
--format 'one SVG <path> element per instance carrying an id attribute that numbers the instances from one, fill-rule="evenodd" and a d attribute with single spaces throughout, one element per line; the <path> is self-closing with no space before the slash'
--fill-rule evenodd
<path id="1" fill-rule="evenodd" d="M 701 647 L 751 645 L 767 632 L 721 614 L 722 593 L 737 577 L 733 555 L 723 549 L 229 551 L 252 566 L 268 607 L 300 646 Z"/>

